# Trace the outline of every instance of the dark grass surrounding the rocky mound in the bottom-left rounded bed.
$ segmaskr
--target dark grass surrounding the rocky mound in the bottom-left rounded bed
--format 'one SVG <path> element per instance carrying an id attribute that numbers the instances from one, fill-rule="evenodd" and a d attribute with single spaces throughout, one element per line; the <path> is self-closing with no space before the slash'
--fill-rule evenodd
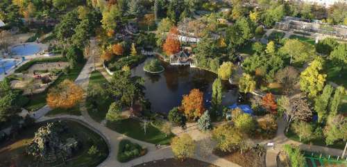
<path id="1" fill-rule="evenodd" d="M 25 155 L 25 149 L 28 143 L 33 139 L 35 132 L 40 126 L 46 123 L 40 123 L 33 125 L 30 128 L 22 130 L 15 139 L 1 143 L 0 145 L 0 166 L 11 166 L 11 162 L 15 163 L 15 166 L 65 166 L 76 167 L 86 166 L 94 167 L 98 166 L 104 159 L 108 157 L 108 146 L 99 134 L 93 132 L 89 128 L 77 123 L 75 121 L 63 121 L 67 123 L 68 131 L 62 134 L 62 139 L 74 137 L 81 143 L 81 148 L 74 153 L 71 159 L 65 159 L 67 161 L 58 161 L 38 164 L 34 161 L 34 158 L 30 155 Z M 88 155 L 87 152 L 91 146 L 96 146 L 99 153 L 96 155 Z M 64 164 L 63 164 L 64 163 Z"/>

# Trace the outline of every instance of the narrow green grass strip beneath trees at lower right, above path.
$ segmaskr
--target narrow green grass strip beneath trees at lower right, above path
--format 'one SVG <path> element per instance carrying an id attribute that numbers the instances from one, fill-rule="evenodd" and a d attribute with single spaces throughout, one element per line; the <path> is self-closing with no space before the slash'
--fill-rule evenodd
<path id="1" fill-rule="evenodd" d="M 298 135 L 296 135 L 294 132 L 292 132 L 291 129 L 289 129 L 288 132 L 285 133 L 285 136 L 288 137 L 289 139 L 300 142 Z M 328 147 L 328 148 L 338 148 L 338 149 L 343 149 L 345 144 L 346 144 L 343 141 L 339 141 L 339 142 L 335 143 L 334 145 L 326 146 L 325 139 L 323 139 L 323 138 L 316 138 L 316 139 L 312 139 L 311 141 L 301 141 L 301 143 L 305 143 L 305 144 L 312 143 L 313 145 L 316 145 L 316 146 L 324 146 L 324 147 Z"/>

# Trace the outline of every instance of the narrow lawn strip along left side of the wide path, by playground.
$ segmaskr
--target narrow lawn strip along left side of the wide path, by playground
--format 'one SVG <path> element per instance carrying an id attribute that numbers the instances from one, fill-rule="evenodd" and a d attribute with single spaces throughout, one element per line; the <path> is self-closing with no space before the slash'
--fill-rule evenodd
<path id="1" fill-rule="evenodd" d="M 78 66 L 75 69 L 71 69 L 69 73 L 65 74 L 62 73 L 61 76 L 54 82 L 50 87 L 54 87 L 55 85 L 58 85 L 60 82 L 62 82 L 65 79 L 68 80 L 76 80 L 78 77 L 78 74 L 82 71 L 84 64 L 78 64 Z M 47 89 L 46 91 L 41 92 L 40 94 L 33 94 L 31 96 L 28 96 L 29 103 L 24 106 L 26 109 L 28 109 L 29 112 L 36 111 L 37 109 L 40 109 L 46 105 L 46 96 L 47 96 Z"/>

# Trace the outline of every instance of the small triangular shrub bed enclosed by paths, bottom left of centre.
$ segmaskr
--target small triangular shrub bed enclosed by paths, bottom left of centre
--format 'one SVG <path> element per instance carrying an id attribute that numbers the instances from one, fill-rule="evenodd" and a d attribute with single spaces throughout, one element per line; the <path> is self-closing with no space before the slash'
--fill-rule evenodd
<path id="1" fill-rule="evenodd" d="M 146 148 L 142 148 L 139 144 L 124 139 L 119 142 L 117 159 L 120 162 L 126 162 L 135 159 L 136 157 L 146 155 L 146 153 Z"/>

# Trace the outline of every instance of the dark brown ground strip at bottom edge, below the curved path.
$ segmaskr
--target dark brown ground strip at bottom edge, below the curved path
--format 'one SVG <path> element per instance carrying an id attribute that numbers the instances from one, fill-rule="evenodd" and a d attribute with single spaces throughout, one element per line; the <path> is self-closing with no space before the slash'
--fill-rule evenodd
<path id="1" fill-rule="evenodd" d="M 160 159 L 159 161 L 150 161 L 145 164 L 149 167 L 218 167 L 196 159 L 186 159 L 185 161 L 177 159 Z M 144 164 L 139 164 L 135 167 L 140 166 L 144 166 Z"/>

